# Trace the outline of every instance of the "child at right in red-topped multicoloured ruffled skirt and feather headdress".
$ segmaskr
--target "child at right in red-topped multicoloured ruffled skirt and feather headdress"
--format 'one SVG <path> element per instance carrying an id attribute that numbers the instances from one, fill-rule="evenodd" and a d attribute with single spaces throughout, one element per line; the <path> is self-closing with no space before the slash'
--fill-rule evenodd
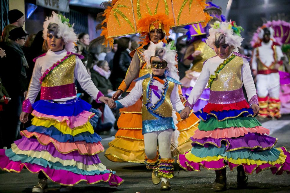
<path id="1" fill-rule="evenodd" d="M 277 139 L 265 134 L 255 119 L 259 112 L 258 97 L 246 56 L 238 54 L 242 27 L 235 22 L 215 22 L 209 30 L 208 45 L 217 56 L 208 59 L 193 87 L 181 117 L 186 118 L 206 84 L 209 103 L 201 110 L 198 130 L 191 137 L 193 148 L 179 155 L 178 163 L 188 171 L 200 166 L 215 170 L 214 190 L 226 189 L 226 165 L 237 168 L 238 188 L 247 185 L 247 174 L 271 168 L 273 174 L 289 173 L 290 154 L 286 148 L 275 147 Z M 242 90 L 244 85 L 249 103 Z"/>

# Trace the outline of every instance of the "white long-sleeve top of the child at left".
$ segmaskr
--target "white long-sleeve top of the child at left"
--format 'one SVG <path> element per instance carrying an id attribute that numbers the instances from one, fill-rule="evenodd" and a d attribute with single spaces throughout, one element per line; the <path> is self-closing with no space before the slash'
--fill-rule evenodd
<path id="1" fill-rule="evenodd" d="M 32 78 L 28 87 L 28 92 L 26 99 L 29 99 L 30 103 L 33 104 L 35 99 L 40 91 L 41 84 L 39 78 L 43 73 L 49 69 L 54 63 L 60 61 L 64 56 L 66 56 L 66 50 L 61 50 L 58 52 L 52 52 L 48 50 L 45 56 L 39 57 L 36 59 L 35 66 L 32 73 Z M 91 80 L 90 75 L 86 71 L 85 66 L 82 61 L 76 56 L 75 70 L 74 70 L 74 79 L 77 79 L 81 87 L 94 99 L 97 98 L 99 90 L 95 87 L 95 84 Z M 55 99 L 54 101 L 63 102 L 66 100 L 74 99 L 76 96 Z"/>

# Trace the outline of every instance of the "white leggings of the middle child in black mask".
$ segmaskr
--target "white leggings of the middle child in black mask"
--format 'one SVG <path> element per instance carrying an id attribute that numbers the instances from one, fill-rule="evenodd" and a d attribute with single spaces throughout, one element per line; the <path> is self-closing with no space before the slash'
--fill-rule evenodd
<path id="1" fill-rule="evenodd" d="M 153 131 L 144 133 L 145 155 L 149 159 L 154 159 L 157 152 L 157 140 L 159 145 L 159 154 L 162 159 L 171 158 L 171 135 L 173 129 L 163 131 Z"/>

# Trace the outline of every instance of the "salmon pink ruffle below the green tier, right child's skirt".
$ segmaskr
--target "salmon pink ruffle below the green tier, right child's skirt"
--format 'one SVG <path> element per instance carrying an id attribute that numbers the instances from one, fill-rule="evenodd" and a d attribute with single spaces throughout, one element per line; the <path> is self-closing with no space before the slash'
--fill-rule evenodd
<path id="1" fill-rule="evenodd" d="M 204 131 L 197 129 L 192 137 L 194 139 L 202 139 L 204 137 L 212 137 L 215 139 L 219 139 L 219 138 L 240 137 L 248 133 L 259 133 L 269 135 L 270 130 L 262 126 L 255 126 L 253 128 L 246 127 L 217 128 L 212 131 Z"/>

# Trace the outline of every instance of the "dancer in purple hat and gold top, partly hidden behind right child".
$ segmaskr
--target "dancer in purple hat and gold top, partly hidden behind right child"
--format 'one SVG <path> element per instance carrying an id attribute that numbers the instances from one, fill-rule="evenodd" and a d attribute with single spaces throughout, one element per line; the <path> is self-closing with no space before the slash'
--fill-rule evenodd
<path id="1" fill-rule="evenodd" d="M 206 9 L 211 9 L 213 19 L 211 19 L 206 27 L 202 27 L 201 23 L 186 25 L 184 27 L 188 29 L 186 35 L 188 36 L 189 46 L 184 54 L 183 63 L 186 66 L 192 64 L 191 69 L 187 70 L 185 77 L 180 80 L 183 86 L 182 93 L 186 99 L 200 76 L 204 61 L 216 55 L 215 51 L 205 42 L 209 36 L 209 28 L 211 28 L 214 21 L 225 21 L 224 15 L 221 14 L 221 8 L 212 2 L 208 2 L 208 4 Z M 204 108 L 209 101 L 209 91 L 209 88 L 205 88 L 200 99 L 193 106 L 193 113 L 197 117 L 199 116 L 199 110 Z"/>

